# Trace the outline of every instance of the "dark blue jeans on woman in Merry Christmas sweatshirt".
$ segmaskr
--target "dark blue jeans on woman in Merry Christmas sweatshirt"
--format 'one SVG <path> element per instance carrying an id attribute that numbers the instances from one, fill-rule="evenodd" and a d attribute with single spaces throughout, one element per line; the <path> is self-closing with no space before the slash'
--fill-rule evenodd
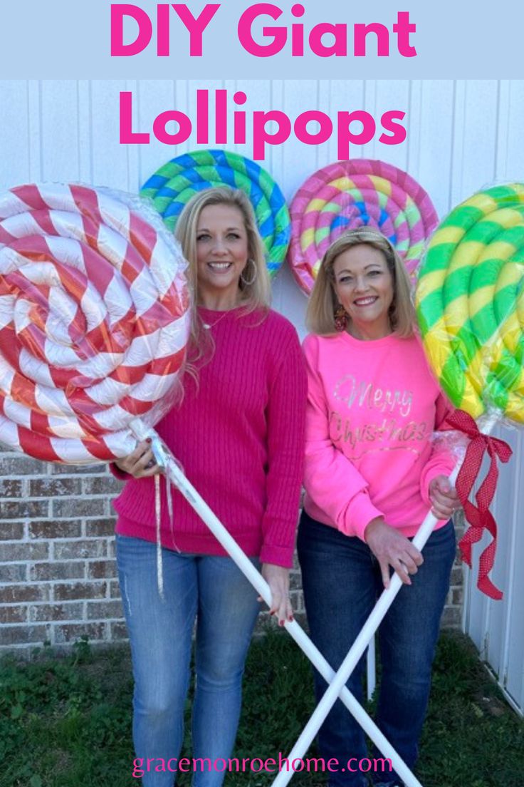
<path id="1" fill-rule="evenodd" d="M 383 589 L 379 564 L 359 538 L 348 538 L 306 512 L 300 520 L 298 549 L 311 637 L 337 670 Z M 382 679 L 376 723 L 409 767 L 416 761 L 455 556 L 453 523 L 431 534 L 423 556 L 418 573 L 412 575 L 412 585 L 402 586 L 379 629 Z M 347 682 L 359 702 L 364 669 L 362 656 Z M 327 685 L 317 671 L 314 677 L 320 700 Z M 364 733 L 340 700 L 321 727 L 318 743 L 325 760 L 336 757 L 339 763 L 346 763 L 350 757 L 367 756 Z M 394 771 L 371 775 L 385 784 L 398 779 Z M 353 774 L 347 768 L 330 776 L 333 787 L 365 787 L 367 783 L 365 774 Z"/>

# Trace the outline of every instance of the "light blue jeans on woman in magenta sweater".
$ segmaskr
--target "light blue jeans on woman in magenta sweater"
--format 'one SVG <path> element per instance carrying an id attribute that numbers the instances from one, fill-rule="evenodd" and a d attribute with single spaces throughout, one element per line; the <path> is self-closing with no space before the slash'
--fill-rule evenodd
<path id="1" fill-rule="evenodd" d="M 196 619 L 192 756 L 231 756 L 242 674 L 258 614 L 257 593 L 229 557 L 163 549 L 165 600 L 156 582 L 156 545 L 116 537 L 116 560 L 133 659 L 136 756 L 180 756 Z M 154 763 L 156 766 L 157 763 Z M 153 767 L 154 767 L 153 766 Z M 172 768 L 176 763 L 172 764 Z M 144 768 L 145 770 L 145 768 Z M 218 787 L 224 773 L 195 770 L 196 787 Z M 145 771 L 144 787 L 172 787 L 174 773 Z"/>

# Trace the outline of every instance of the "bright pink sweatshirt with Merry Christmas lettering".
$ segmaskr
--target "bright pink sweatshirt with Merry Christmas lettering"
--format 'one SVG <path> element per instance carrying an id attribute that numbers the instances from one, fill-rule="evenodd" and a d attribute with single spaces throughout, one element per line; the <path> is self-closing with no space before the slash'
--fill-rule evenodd
<path id="1" fill-rule="evenodd" d="M 431 479 L 455 464 L 445 442 L 432 438 L 449 405 L 419 340 L 312 334 L 303 349 L 306 512 L 361 539 L 378 516 L 413 536 L 431 508 Z"/>

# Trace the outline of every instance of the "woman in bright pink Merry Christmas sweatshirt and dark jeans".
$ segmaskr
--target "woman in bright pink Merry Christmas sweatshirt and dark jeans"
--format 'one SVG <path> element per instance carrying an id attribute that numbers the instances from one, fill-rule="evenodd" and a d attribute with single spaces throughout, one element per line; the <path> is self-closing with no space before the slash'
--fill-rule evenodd
<path id="1" fill-rule="evenodd" d="M 453 457 L 434 439 L 447 405 L 413 331 L 405 268 L 371 227 L 340 236 L 322 260 L 307 311 L 306 499 L 299 527 L 306 611 L 336 670 L 397 571 L 404 586 L 379 631 L 377 723 L 405 762 L 417 756 L 431 663 L 449 589 L 458 505 Z M 438 517 L 423 556 L 411 538 Z M 364 659 L 348 682 L 361 698 Z M 326 684 L 315 674 L 320 699 Z M 332 787 L 364 787 L 345 767 L 366 756 L 364 733 L 337 700 L 319 733 Z M 342 770 L 344 766 L 344 770 Z M 373 783 L 401 782 L 386 769 Z"/>

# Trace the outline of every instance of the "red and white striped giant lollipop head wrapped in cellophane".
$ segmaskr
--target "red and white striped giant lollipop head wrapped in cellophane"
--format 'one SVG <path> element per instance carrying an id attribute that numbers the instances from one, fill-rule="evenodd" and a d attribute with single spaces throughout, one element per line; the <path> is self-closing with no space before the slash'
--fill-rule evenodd
<path id="1" fill-rule="evenodd" d="M 75 464 L 134 449 L 173 400 L 189 335 L 181 251 L 137 198 L 0 196 L 0 441 Z"/>

